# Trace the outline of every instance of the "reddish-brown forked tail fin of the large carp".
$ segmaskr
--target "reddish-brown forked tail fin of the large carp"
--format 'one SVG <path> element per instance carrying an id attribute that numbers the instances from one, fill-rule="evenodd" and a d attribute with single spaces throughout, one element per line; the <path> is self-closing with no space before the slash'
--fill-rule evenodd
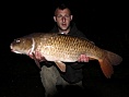
<path id="1" fill-rule="evenodd" d="M 112 74 L 114 73 L 113 65 L 119 64 L 122 61 L 122 58 L 114 52 L 107 50 L 105 51 L 106 51 L 105 58 L 99 59 L 98 62 L 104 75 L 107 78 L 110 78 Z"/>

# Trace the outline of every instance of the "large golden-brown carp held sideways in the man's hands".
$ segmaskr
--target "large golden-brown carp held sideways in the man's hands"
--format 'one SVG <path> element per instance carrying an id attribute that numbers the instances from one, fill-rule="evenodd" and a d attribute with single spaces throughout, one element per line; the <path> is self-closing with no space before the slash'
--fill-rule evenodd
<path id="1" fill-rule="evenodd" d="M 32 33 L 14 39 L 10 49 L 20 54 L 32 54 L 38 51 L 47 61 L 52 61 L 61 72 L 66 72 L 66 62 L 77 62 L 81 54 L 97 60 L 103 74 L 110 78 L 113 65 L 118 65 L 122 58 L 109 50 L 96 46 L 93 41 L 72 35 L 56 33 Z M 35 58 L 35 57 L 34 57 Z M 35 62 L 39 66 L 35 58 Z"/>

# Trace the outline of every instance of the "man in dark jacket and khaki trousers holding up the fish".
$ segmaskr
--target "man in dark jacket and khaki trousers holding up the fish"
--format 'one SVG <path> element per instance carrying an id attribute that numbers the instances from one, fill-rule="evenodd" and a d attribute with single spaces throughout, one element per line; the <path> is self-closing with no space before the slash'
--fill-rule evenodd
<path id="1" fill-rule="evenodd" d="M 66 7 L 64 4 L 59 5 L 55 11 L 54 16 L 56 25 L 50 31 L 50 33 L 73 35 L 85 38 L 85 35 L 81 33 L 72 22 L 72 17 L 73 15 L 71 14 L 71 11 L 68 7 Z M 35 54 L 38 60 L 45 60 L 45 58 L 40 57 L 38 52 Z M 84 65 L 84 63 L 82 62 L 89 62 L 89 58 L 86 58 L 86 56 L 82 53 L 78 61 L 79 62 L 75 63 L 66 63 L 66 72 L 61 72 L 60 70 L 58 70 L 58 68 L 56 68 L 54 63 L 50 63 L 50 65 L 46 64 L 42 66 L 40 77 L 46 90 L 46 96 L 57 93 L 56 85 L 66 86 L 71 84 L 82 86 L 82 66 Z"/>

